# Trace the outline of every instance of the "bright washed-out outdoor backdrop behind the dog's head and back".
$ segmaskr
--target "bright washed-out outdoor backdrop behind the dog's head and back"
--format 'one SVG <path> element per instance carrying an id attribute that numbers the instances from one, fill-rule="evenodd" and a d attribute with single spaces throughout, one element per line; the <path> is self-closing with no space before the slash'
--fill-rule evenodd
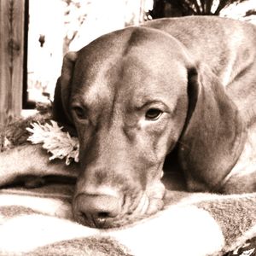
<path id="1" fill-rule="evenodd" d="M 166 1 L 165 15 L 180 16 L 171 3 Z M 218 4 L 218 0 L 213 1 L 212 13 L 218 9 Z M 149 12 L 153 7 L 153 0 L 30 0 L 28 101 L 48 102 L 53 98 L 62 58 L 68 51 L 81 49 L 104 33 L 152 19 Z M 247 11 L 254 7 L 254 0 L 232 3 L 219 15 L 255 22 L 255 15 L 247 16 Z M 196 9 L 195 5 L 192 8 Z"/>

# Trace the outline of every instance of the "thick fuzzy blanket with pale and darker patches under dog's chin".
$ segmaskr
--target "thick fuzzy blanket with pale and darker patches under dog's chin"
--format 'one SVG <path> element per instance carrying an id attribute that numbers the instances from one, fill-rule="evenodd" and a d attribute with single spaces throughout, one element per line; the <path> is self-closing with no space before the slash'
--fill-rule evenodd
<path id="1" fill-rule="evenodd" d="M 26 125 L 34 119 L 46 117 L 40 113 L 26 119 Z M 13 136 L 26 133 L 22 124 L 4 129 L 12 131 L 12 139 L 2 135 L 2 148 L 8 151 L 2 149 L 0 161 L 1 154 L 12 155 L 19 147 L 34 147 L 37 154 L 37 145 L 23 145 L 23 138 Z M 67 181 L 74 173 L 32 189 L 16 182 L 19 174 L 27 173 L 15 159 L 11 164 L 15 168 L 6 172 L 0 163 L 0 181 L 8 181 L 0 190 L 0 255 L 256 255 L 256 193 L 168 190 L 165 207 L 154 216 L 119 229 L 97 230 L 73 219 L 74 183 Z"/>

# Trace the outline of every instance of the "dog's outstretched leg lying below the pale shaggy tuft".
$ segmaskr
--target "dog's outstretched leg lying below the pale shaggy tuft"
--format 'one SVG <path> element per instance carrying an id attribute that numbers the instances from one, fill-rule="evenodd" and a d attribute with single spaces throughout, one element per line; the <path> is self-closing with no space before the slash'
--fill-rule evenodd
<path id="1" fill-rule="evenodd" d="M 0 186 L 24 181 L 28 186 L 31 177 L 77 177 L 77 164 L 66 166 L 63 160 L 49 161 L 49 154 L 41 145 L 22 145 L 0 154 Z M 36 183 L 35 183 L 36 185 Z"/>

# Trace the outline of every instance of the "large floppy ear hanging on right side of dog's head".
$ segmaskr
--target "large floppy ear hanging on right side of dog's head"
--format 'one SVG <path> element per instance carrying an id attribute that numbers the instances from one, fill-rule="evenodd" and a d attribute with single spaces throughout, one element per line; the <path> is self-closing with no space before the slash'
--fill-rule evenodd
<path id="1" fill-rule="evenodd" d="M 188 189 L 212 191 L 236 164 L 246 132 L 236 105 L 209 67 L 191 67 L 188 81 L 189 111 L 178 161 Z"/>

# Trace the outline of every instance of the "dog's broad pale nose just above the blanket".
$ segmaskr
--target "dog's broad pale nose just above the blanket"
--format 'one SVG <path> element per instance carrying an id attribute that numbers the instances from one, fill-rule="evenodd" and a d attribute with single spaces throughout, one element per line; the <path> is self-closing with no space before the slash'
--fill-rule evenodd
<path id="1" fill-rule="evenodd" d="M 79 216 L 98 228 L 105 227 L 106 221 L 109 222 L 121 212 L 121 201 L 113 195 L 81 194 L 76 198 L 76 206 Z"/>

